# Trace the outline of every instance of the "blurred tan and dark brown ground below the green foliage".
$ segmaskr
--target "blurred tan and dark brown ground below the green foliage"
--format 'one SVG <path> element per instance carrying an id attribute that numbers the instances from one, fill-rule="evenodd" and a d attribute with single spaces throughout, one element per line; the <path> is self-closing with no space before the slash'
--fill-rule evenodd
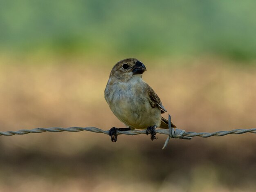
<path id="1" fill-rule="evenodd" d="M 211 58 L 141 60 L 148 69 L 144 80 L 179 128 L 256 127 L 255 66 Z M 103 96 L 114 63 L 33 62 L 0 61 L 1 131 L 123 126 Z M 0 191 L 255 190 L 255 134 L 173 139 L 166 150 L 166 136 L 158 137 L 122 135 L 112 143 L 90 132 L 1 136 Z"/>

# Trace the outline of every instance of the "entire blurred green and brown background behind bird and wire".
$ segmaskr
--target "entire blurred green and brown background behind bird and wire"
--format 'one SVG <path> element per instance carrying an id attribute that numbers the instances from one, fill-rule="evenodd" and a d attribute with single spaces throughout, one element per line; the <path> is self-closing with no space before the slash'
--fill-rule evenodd
<path id="1" fill-rule="evenodd" d="M 0 0 L 0 131 L 123 127 L 103 94 L 131 57 L 178 128 L 255 128 L 255 10 L 254 0 Z M 157 136 L 0 136 L 0 191 L 255 191 L 255 134 L 165 150 Z"/>

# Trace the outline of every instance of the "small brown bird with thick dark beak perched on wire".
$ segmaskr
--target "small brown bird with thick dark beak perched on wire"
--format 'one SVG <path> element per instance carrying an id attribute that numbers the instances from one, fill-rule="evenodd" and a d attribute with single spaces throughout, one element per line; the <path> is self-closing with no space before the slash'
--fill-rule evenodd
<path id="1" fill-rule="evenodd" d="M 112 127 L 111 141 L 117 141 L 117 130 L 147 129 L 153 141 L 155 129 L 168 129 L 168 120 L 161 117 L 167 112 L 154 90 L 142 79 L 146 71 L 143 63 L 135 58 L 119 61 L 111 70 L 105 89 L 105 99 L 115 116 L 127 128 Z M 172 127 L 176 127 L 171 123 Z"/>

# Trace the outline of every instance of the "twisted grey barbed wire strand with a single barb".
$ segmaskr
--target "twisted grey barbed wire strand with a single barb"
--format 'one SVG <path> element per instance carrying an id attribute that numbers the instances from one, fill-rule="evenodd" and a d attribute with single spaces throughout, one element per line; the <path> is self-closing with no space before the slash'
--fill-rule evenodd
<path id="1" fill-rule="evenodd" d="M 171 122 L 171 116 L 169 116 L 169 122 Z M 94 133 L 104 133 L 109 134 L 109 131 L 105 131 L 99 129 L 97 127 L 50 127 L 50 128 L 35 128 L 35 129 L 21 129 L 18 131 L 7 131 L 1 132 L 0 136 L 13 136 L 13 135 L 24 135 L 29 133 L 43 133 L 43 132 L 80 132 L 80 131 L 90 131 Z M 158 134 L 168 135 L 166 142 L 164 143 L 163 149 L 167 146 L 167 143 L 170 138 L 181 138 L 181 139 L 191 139 L 192 137 L 199 136 L 203 138 L 208 138 L 211 136 L 224 136 L 227 134 L 243 134 L 243 133 L 256 133 L 256 128 L 252 129 L 234 129 L 231 131 L 217 131 L 212 133 L 207 132 L 186 132 L 182 129 L 174 129 L 171 127 L 171 123 L 169 123 L 169 129 L 156 129 L 155 132 Z M 130 131 L 118 131 L 117 135 L 126 134 L 126 135 L 138 135 L 138 134 L 146 134 L 146 130 L 130 130 Z"/>

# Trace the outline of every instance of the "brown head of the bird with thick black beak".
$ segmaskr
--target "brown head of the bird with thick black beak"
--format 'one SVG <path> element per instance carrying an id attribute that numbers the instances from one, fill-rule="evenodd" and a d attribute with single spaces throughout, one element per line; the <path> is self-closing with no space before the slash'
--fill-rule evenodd
<path id="1" fill-rule="evenodd" d="M 128 81 L 133 77 L 140 77 L 146 71 L 143 63 L 135 58 L 128 58 L 119 61 L 110 73 L 110 78 L 117 78 L 120 81 Z"/>

